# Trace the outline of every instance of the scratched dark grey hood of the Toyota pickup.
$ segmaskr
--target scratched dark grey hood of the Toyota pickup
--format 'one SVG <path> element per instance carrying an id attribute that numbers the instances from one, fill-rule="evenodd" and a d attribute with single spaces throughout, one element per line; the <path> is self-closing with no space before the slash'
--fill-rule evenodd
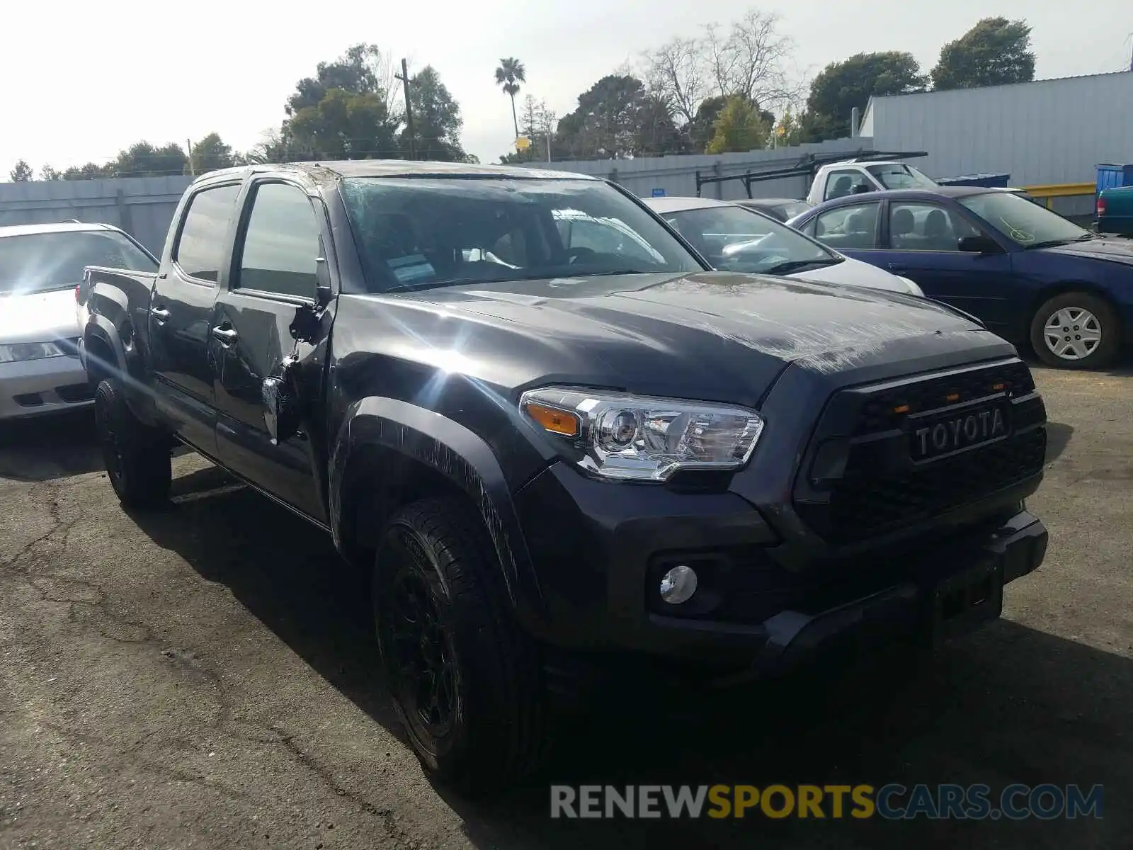
<path id="1" fill-rule="evenodd" d="M 911 357 L 954 351 L 970 362 L 981 341 L 996 349 L 987 356 L 1013 352 L 932 301 L 766 275 L 631 274 L 347 297 L 351 308 L 335 323 L 341 351 L 360 359 L 376 346 L 501 388 L 555 380 L 753 403 L 791 364 L 829 375 L 893 363 L 908 374 Z"/>

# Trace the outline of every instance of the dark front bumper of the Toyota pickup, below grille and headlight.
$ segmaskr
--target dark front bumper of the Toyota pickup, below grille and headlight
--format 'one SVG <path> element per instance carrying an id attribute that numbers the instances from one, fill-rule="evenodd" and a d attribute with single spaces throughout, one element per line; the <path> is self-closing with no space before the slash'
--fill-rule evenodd
<path id="1" fill-rule="evenodd" d="M 782 539 L 732 492 L 607 484 L 555 465 L 520 491 L 517 509 L 546 606 L 540 638 L 709 678 L 782 670 L 847 641 L 939 639 L 979 626 L 999 615 L 1003 585 L 1037 569 L 1047 547 L 1042 522 L 1012 494 L 985 504 L 980 519 L 942 518 L 903 542 L 807 564 L 776 561 Z M 656 589 L 676 563 L 701 577 L 679 612 Z M 946 583 L 973 569 L 990 580 L 987 604 L 936 622 Z"/>

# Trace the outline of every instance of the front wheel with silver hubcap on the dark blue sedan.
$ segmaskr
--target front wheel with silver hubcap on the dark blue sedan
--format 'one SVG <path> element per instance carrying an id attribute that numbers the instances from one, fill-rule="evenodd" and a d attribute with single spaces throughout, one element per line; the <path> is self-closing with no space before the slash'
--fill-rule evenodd
<path id="1" fill-rule="evenodd" d="M 1121 351 L 1121 318 L 1109 301 L 1096 295 L 1056 295 L 1031 320 L 1031 346 L 1050 366 L 1100 368 Z"/>

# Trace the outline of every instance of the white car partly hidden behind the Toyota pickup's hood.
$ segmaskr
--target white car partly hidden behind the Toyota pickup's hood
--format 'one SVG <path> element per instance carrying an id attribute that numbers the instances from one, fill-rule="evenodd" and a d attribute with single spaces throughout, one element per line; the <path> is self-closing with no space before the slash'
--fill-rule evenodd
<path id="1" fill-rule="evenodd" d="M 641 199 L 714 269 L 925 296 L 908 278 L 838 254 L 756 210 L 707 197 Z"/>

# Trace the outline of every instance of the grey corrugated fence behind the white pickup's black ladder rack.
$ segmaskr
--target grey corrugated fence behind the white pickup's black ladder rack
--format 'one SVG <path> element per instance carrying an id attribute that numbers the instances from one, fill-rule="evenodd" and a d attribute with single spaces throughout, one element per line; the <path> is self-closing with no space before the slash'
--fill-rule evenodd
<path id="1" fill-rule="evenodd" d="M 780 147 L 748 153 L 722 153 L 715 155 L 641 156 L 633 160 L 580 160 L 577 162 L 531 162 L 533 168 L 550 168 L 556 171 L 577 171 L 583 175 L 608 177 L 616 180 L 639 197 L 649 197 L 654 189 L 663 189 L 670 197 L 695 196 L 697 194 L 697 170 L 701 177 L 726 177 L 742 175 L 752 169 L 766 169 L 770 163 L 791 167 L 808 153 L 845 153 L 874 150 L 869 138 L 828 139 L 819 144 Z M 790 177 L 751 185 L 755 197 L 795 197 L 807 194 L 806 178 Z M 748 194 L 740 180 L 708 184 L 700 194 L 735 201 Z"/>

